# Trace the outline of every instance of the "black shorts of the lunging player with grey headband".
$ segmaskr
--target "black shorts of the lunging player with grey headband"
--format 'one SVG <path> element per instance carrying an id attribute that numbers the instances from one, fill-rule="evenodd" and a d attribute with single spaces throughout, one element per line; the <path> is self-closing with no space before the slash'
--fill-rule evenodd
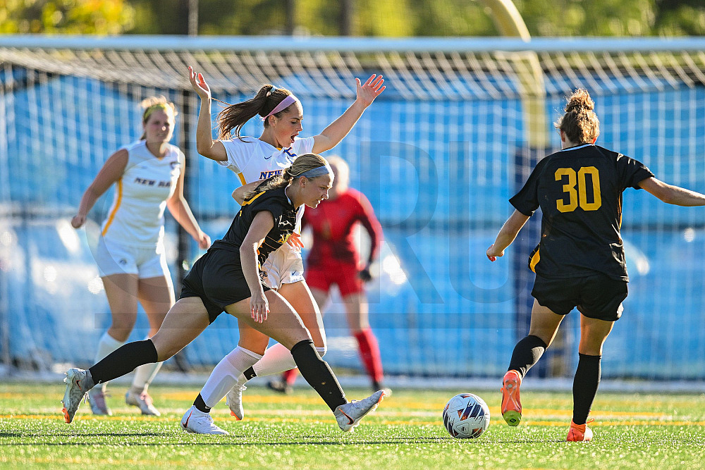
<path id="1" fill-rule="evenodd" d="M 262 285 L 264 290 L 269 287 Z M 200 297 L 211 323 L 225 307 L 252 297 L 240 266 L 240 254 L 226 249 L 210 249 L 193 264 L 183 278 L 179 299 Z"/>

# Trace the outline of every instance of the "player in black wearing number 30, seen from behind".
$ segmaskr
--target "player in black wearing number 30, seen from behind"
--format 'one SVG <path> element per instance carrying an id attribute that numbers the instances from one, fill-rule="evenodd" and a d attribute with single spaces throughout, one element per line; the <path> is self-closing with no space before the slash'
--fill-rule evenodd
<path id="1" fill-rule="evenodd" d="M 578 89 L 558 120 L 561 150 L 541 160 L 510 203 L 487 257 L 495 261 L 541 207 L 541 240 L 529 259 L 536 273 L 529 335 L 514 348 L 503 379 L 502 415 L 509 426 L 521 421 L 519 387 L 556 336 L 563 317 L 580 311 L 580 360 L 573 381 L 569 441 L 591 440 L 585 426 L 600 382 L 602 345 L 622 314 L 627 269 L 620 236 L 622 192 L 644 189 L 668 204 L 703 206 L 705 195 L 668 185 L 642 163 L 595 145 L 599 120 L 588 92 Z"/>

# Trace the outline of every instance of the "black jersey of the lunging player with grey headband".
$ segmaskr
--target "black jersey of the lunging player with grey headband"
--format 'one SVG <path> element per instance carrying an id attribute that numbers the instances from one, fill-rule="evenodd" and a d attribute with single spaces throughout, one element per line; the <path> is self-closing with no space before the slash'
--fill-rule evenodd
<path id="1" fill-rule="evenodd" d="M 255 215 L 261 211 L 271 212 L 274 217 L 274 227 L 264 237 L 264 242 L 257 249 L 257 261 L 261 267 L 271 252 L 281 247 L 294 231 L 296 225 L 296 209 L 280 187 L 275 190 L 260 192 L 243 204 L 238 215 L 222 240 L 216 240 L 213 249 L 226 249 L 240 253 L 240 246 L 250 230 Z M 239 256 L 238 256 L 239 259 Z"/>

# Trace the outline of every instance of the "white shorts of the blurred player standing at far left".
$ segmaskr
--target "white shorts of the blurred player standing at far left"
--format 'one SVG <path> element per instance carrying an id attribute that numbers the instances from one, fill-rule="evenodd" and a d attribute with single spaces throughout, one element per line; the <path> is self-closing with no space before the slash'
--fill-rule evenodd
<path id="1" fill-rule="evenodd" d="M 140 279 L 166 276 L 171 281 L 166 264 L 164 243 L 155 247 L 132 247 L 103 237 L 98 239 L 95 261 L 101 277 L 112 274 L 137 274 Z"/>

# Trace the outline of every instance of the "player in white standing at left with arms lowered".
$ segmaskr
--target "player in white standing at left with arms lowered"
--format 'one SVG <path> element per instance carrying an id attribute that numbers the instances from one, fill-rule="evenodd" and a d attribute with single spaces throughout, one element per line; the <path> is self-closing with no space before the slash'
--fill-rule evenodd
<path id="1" fill-rule="evenodd" d="M 104 221 L 95 259 L 110 305 L 112 323 L 99 341 L 95 360 L 125 344 L 137 319 L 137 302 L 149 318 L 149 337 L 157 333 L 174 304 L 174 289 L 164 253 L 164 209 L 206 249 L 211 241 L 193 218 L 183 197 L 184 154 L 168 143 L 176 111 L 164 97 L 142 101 L 144 134 L 122 147 L 105 162 L 83 194 L 71 224 L 80 228 L 96 200 L 116 185 L 115 199 Z M 147 388 L 161 362 L 135 371 L 125 402 L 142 414 L 159 416 Z M 111 414 L 105 402 L 105 385 L 89 394 L 94 414 Z"/>

